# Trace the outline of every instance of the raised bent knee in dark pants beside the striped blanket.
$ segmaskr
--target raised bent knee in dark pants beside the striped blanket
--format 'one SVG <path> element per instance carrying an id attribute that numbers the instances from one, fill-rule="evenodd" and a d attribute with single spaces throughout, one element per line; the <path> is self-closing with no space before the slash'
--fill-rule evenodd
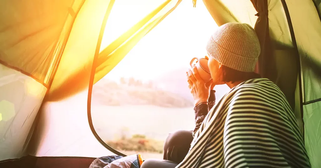
<path id="1" fill-rule="evenodd" d="M 193 131 L 180 130 L 169 134 L 164 143 L 164 160 L 181 163 L 193 141 Z"/>

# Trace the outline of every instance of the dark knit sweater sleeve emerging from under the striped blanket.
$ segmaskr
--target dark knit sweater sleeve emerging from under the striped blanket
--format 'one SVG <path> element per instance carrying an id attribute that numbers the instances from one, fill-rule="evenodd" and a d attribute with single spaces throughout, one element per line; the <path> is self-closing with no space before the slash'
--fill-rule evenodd
<path id="1" fill-rule="evenodd" d="M 200 128 L 200 126 L 201 126 L 205 116 L 209 112 L 209 110 L 215 104 L 215 91 L 214 90 L 211 90 L 208 102 L 210 103 L 209 105 L 202 103 L 202 104 L 195 107 L 195 128 L 193 131 L 193 136 L 197 132 L 197 130 Z"/>

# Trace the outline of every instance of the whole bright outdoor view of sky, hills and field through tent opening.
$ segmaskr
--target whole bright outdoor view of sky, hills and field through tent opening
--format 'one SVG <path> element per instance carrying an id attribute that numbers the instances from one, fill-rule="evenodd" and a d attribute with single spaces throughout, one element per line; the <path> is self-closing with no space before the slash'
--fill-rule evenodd
<path id="1" fill-rule="evenodd" d="M 116 1 L 111 10 L 100 51 L 166 0 L 124 1 Z M 170 1 L 172 4 L 162 12 L 169 11 L 176 2 Z M 91 116 L 101 139 L 126 155 L 138 151 L 144 159 L 162 158 L 163 143 L 169 133 L 193 130 L 194 100 L 185 72 L 192 58 L 207 54 L 205 46 L 217 28 L 203 3 L 193 8 L 192 1 L 181 1 L 143 36 L 93 86 Z M 114 45 L 110 46 L 113 49 Z M 218 88 L 216 98 L 220 99 L 228 89 Z M 106 122 L 111 116 L 117 119 Z"/>

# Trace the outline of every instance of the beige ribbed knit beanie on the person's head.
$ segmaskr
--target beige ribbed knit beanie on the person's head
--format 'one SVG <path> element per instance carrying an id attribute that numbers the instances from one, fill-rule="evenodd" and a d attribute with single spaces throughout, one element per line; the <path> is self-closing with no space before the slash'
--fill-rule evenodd
<path id="1" fill-rule="evenodd" d="M 226 67 L 254 72 L 261 48 L 250 25 L 234 22 L 220 26 L 208 41 L 206 50 L 209 56 Z"/>

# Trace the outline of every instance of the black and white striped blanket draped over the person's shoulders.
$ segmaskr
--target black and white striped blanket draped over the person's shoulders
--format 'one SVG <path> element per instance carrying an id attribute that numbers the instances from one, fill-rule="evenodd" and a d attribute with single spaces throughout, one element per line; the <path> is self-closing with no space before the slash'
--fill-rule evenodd
<path id="1" fill-rule="evenodd" d="M 311 167 L 281 90 L 265 78 L 245 81 L 214 105 L 177 168 Z"/>

